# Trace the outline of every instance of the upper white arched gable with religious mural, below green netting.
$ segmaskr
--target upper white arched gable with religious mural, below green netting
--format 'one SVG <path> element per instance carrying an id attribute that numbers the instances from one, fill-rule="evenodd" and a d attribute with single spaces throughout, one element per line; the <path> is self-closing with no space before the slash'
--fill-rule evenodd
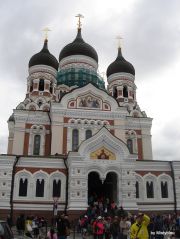
<path id="1" fill-rule="evenodd" d="M 66 94 L 62 98 L 61 104 L 65 108 L 83 110 L 111 111 L 118 108 L 118 103 L 113 97 L 92 84 L 74 89 Z"/>

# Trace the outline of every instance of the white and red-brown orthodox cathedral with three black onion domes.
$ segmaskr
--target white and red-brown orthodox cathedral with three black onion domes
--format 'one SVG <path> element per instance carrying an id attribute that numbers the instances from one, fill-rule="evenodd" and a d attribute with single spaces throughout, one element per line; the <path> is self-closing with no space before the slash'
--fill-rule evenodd
<path id="1" fill-rule="evenodd" d="M 96 194 L 135 212 L 180 209 L 180 162 L 152 157 L 152 118 L 136 98 L 134 66 L 118 48 L 98 74 L 98 54 L 82 37 L 57 60 L 47 38 L 29 60 L 25 99 L 8 119 L 0 155 L 0 217 L 76 216 Z"/>

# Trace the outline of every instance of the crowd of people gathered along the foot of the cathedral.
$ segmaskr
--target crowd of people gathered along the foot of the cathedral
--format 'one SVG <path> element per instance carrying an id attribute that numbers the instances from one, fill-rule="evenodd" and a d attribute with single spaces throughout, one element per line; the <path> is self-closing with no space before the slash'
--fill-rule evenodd
<path id="1" fill-rule="evenodd" d="M 70 231 L 77 231 L 82 239 L 178 238 L 174 235 L 180 231 L 180 217 L 175 214 L 130 214 L 108 198 L 90 200 L 85 214 L 76 223 L 73 221 L 73 225 L 63 213 L 54 218 L 51 227 L 47 227 L 43 217 L 20 215 L 16 221 L 18 234 L 29 238 L 66 239 Z"/>

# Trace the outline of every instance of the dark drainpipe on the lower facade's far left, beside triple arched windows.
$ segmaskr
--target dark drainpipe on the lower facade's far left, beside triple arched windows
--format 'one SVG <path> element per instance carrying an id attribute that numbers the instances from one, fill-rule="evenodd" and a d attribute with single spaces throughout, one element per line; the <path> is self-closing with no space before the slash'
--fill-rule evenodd
<path id="1" fill-rule="evenodd" d="M 15 156 L 14 164 L 13 164 L 13 170 L 12 170 L 12 178 L 11 178 L 11 192 L 10 192 L 10 219 L 13 224 L 13 194 L 14 194 L 14 179 L 15 179 L 15 173 L 16 173 L 16 165 L 20 159 L 20 156 Z"/>

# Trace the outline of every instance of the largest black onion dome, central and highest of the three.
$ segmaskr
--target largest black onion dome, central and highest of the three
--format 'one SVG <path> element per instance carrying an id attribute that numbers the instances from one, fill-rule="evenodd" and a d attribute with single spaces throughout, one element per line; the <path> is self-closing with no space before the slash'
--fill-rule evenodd
<path id="1" fill-rule="evenodd" d="M 72 55 L 84 55 L 93 58 L 96 62 L 98 62 L 98 55 L 96 50 L 87 44 L 81 36 L 81 28 L 78 28 L 78 33 L 73 42 L 66 45 L 59 54 L 59 61 L 67 56 Z"/>

